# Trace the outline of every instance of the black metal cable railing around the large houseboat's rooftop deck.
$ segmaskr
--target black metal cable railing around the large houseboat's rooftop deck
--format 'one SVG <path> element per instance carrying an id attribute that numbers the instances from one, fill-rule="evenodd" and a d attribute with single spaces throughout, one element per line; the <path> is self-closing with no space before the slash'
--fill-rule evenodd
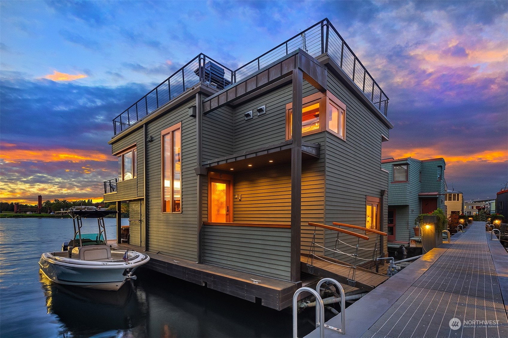
<path id="1" fill-rule="evenodd" d="M 328 19 L 324 19 L 234 71 L 205 54 L 199 54 L 118 115 L 113 120 L 114 133 L 116 135 L 129 128 L 199 82 L 210 84 L 219 90 L 224 89 L 232 83 L 246 79 L 298 48 L 309 53 L 312 57 L 328 53 L 329 57 L 340 66 L 367 99 L 383 115 L 388 116 L 388 96 L 372 78 L 353 50 L 345 43 L 335 27 Z"/>

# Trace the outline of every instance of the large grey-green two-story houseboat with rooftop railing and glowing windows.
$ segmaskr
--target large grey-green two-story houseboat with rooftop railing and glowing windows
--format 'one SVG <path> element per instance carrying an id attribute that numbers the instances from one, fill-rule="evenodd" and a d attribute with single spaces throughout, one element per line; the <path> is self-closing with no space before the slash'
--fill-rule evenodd
<path id="1" fill-rule="evenodd" d="M 130 244 L 149 252 L 147 266 L 282 309 L 314 232 L 317 245 L 336 240 L 308 222 L 383 231 L 387 107 L 328 19 L 236 70 L 200 54 L 113 120 L 119 177 L 104 182 L 104 201 L 130 203 Z M 387 252 L 386 239 L 349 230 Z M 340 240 L 353 254 L 358 238 Z M 277 283 L 290 287 L 261 289 Z"/>

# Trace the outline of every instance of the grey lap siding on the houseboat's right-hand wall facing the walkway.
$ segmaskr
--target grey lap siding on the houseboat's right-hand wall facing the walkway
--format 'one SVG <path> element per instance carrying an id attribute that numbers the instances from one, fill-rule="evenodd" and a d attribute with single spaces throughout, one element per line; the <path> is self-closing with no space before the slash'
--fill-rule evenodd
<path id="1" fill-rule="evenodd" d="M 388 190 L 388 174 L 381 170 L 382 134 L 388 136 L 388 128 L 368 110 L 331 72 L 328 72 L 328 90 L 346 105 L 345 141 L 326 133 L 326 192 L 325 222 L 333 221 L 365 227 L 366 197 L 381 197 L 382 190 Z M 322 155 L 323 156 L 323 155 Z M 384 226 L 386 231 L 387 203 L 384 209 Z M 354 230 L 364 234 L 364 231 Z M 367 234 L 370 239 L 360 239 L 360 247 L 374 248 L 377 235 Z M 333 247 L 337 233 L 325 231 L 326 247 Z M 357 238 L 340 235 L 339 239 L 356 246 Z M 385 240 L 384 251 L 387 252 Z M 341 251 L 354 253 L 355 249 L 339 243 Z M 377 244 L 378 253 L 382 251 Z M 372 258 L 372 250 L 359 250 L 359 256 Z M 349 259 L 344 254 L 330 254 L 341 260 Z M 359 261 L 361 264 L 363 261 Z"/>

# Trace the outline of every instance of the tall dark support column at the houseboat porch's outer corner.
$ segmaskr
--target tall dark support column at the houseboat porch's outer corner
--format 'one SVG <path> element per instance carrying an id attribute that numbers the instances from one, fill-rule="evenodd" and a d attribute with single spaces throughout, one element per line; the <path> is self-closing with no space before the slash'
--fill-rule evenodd
<path id="1" fill-rule="evenodd" d="M 291 281 L 300 280 L 302 223 L 302 87 L 303 72 L 293 70 L 293 122 L 291 147 Z"/>

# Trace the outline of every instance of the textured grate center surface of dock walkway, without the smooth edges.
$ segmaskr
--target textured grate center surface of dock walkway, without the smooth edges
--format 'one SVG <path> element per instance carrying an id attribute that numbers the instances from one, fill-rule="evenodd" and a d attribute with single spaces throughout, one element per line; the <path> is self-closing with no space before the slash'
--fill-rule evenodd
<path id="1" fill-rule="evenodd" d="M 456 330 L 450 327 L 453 318 L 461 324 L 458 327 L 455 323 Z M 475 322 L 467 325 L 469 321 Z M 485 227 L 477 222 L 453 242 L 362 338 L 508 337 L 506 322 Z"/>

